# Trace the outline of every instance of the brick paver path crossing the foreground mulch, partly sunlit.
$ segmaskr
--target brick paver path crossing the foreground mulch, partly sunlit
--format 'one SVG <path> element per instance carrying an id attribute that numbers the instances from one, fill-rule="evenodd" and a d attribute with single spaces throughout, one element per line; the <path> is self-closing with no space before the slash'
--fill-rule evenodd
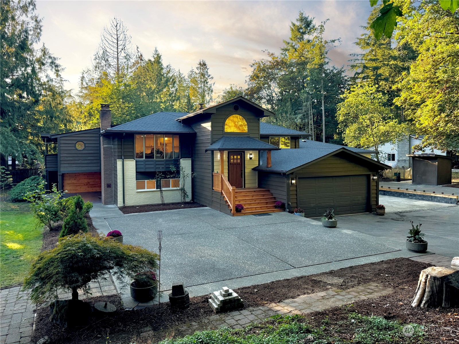
<path id="1" fill-rule="evenodd" d="M 209 316 L 200 322 L 189 322 L 178 327 L 175 335 L 185 336 L 196 331 L 222 327 L 243 328 L 252 322 L 261 322 L 275 314 L 294 315 L 312 313 L 314 311 L 349 304 L 356 300 L 372 299 L 390 293 L 392 293 L 391 288 L 377 283 L 367 283 L 347 290 L 331 289 L 316 294 L 303 295 L 296 299 L 283 300 L 282 302 L 266 306 L 249 307 L 242 311 L 232 311 Z M 142 333 L 140 336 L 142 338 L 153 338 L 155 335 L 156 333 L 150 330 Z"/>

